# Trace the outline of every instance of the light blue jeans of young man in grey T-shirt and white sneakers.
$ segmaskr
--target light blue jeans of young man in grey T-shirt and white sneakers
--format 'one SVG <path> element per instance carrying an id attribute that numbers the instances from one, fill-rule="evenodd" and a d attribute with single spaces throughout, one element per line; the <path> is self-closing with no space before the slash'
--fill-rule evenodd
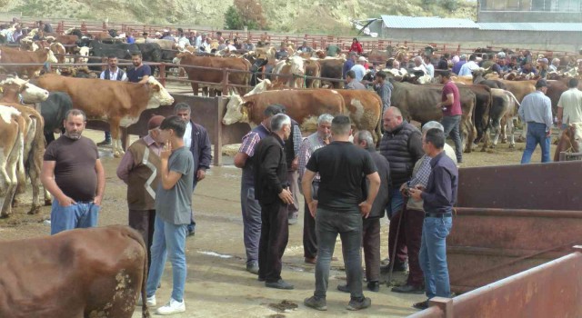
<path id="1" fill-rule="evenodd" d="M 172 263 L 173 288 L 172 298 L 178 302 L 184 299 L 184 285 L 186 284 L 186 224 L 171 224 L 156 216 L 154 225 L 154 242 L 150 248 L 152 264 L 147 275 L 147 297 L 156 294 L 160 283 L 166 255 Z"/>

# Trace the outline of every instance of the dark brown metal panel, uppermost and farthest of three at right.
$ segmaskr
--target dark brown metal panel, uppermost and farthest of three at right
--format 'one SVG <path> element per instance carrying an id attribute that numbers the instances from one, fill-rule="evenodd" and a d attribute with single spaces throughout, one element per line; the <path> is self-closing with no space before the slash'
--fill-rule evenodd
<path id="1" fill-rule="evenodd" d="M 457 206 L 582 210 L 582 161 L 463 168 Z"/>

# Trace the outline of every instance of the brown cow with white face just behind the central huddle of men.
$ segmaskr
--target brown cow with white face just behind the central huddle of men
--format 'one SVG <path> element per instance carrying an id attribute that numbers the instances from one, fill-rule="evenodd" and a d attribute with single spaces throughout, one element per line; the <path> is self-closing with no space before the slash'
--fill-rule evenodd
<path id="1" fill-rule="evenodd" d="M 240 122 L 255 127 L 263 121 L 263 112 L 269 104 L 286 106 L 286 114 L 299 124 L 320 114 L 346 114 L 344 98 L 335 90 L 276 90 L 242 97 L 231 94 L 222 123 Z"/>

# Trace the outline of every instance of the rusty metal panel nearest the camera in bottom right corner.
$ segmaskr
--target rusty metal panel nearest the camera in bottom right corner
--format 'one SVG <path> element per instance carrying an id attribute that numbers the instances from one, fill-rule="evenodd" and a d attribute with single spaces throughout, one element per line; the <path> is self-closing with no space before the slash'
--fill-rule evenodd
<path id="1" fill-rule="evenodd" d="M 582 317 L 582 254 L 570 253 L 457 296 L 453 312 L 479 318 Z"/>

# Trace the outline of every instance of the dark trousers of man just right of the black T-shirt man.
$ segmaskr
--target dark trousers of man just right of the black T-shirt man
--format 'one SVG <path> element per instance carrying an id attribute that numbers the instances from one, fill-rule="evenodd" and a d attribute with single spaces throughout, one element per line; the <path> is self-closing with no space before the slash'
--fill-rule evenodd
<path id="1" fill-rule="evenodd" d="M 418 243 L 420 247 L 420 241 Z M 366 263 L 366 281 L 378 282 L 380 280 L 380 219 L 364 219 L 362 246 Z"/>

